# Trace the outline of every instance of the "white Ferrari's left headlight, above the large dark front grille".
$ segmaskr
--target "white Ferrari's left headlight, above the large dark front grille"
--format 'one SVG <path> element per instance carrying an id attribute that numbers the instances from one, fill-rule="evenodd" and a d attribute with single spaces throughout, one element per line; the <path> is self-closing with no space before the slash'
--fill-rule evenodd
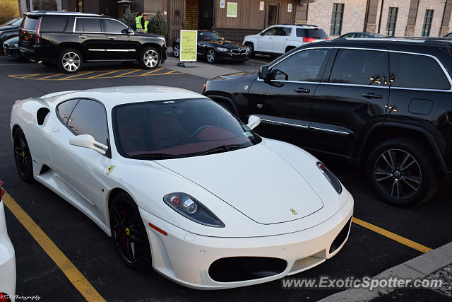
<path id="1" fill-rule="evenodd" d="M 212 211 L 189 194 L 182 192 L 169 193 L 163 197 L 163 201 L 170 208 L 174 209 L 174 211 L 177 211 L 177 213 L 191 221 L 203 224 L 204 226 L 225 227 L 225 223 L 222 223 Z"/>

